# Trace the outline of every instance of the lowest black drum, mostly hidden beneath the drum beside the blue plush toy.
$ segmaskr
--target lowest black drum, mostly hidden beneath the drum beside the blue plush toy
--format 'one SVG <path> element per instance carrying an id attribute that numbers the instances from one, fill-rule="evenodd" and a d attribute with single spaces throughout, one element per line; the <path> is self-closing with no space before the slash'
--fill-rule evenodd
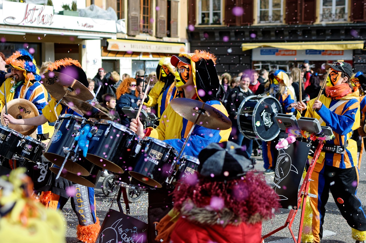
<path id="1" fill-rule="evenodd" d="M 60 167 L 53 164 L 52 167 L 50 168 L 50 170 L 53 173 L 57 174 L 60 170 Z M 83 186 L 96 187 L 101 174 L 102 174 L 102 168 L 93 164 L 92 169 L 90 171 L 90 175 L 88 175 L 88 176 L 76 175 L 76 174 L 68 172 L 66 170 L 62 170 L 60 176 L 62 178 L 65 178 L 69 181 L 72 181 L 74 183 L 77 183 L 77 184 L 80 184 Z"/>

